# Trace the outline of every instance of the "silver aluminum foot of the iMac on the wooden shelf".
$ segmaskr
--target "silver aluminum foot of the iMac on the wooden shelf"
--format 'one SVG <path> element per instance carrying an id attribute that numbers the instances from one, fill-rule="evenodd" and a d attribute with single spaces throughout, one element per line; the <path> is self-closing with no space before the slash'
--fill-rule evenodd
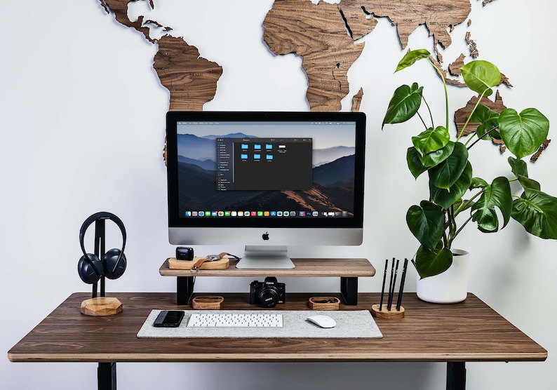
<path id="1" fill-rule="evenodd" d="M 286 246 L 246 245 L 242 259 L 236 268 L 292 269 L 294 263 L 288 257 Z"/>

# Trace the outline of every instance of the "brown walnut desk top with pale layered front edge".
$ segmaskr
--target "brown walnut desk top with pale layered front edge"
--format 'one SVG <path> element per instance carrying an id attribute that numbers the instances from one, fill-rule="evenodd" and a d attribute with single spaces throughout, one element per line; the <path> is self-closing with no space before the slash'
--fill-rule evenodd
<path id="1" fill-rule="evenodd" d="M 248 293 L 220 294 L 224 309 L 253 309 Z M 319 293 L 323 295 L 323 293 Z M 327 294 L 330 295 L 330 294 Z M 337 295 L 337 294 L 334 294 Z M 547 351 L 474 295 L 460 304 L 428 304 L 404 295 L 405 318 L 376 318 L 382 339 L 138 339 L 152 309 L 191 309 L 175 293 L 117 293 L 121 314 L 83 316 L 87 293 L 72 294 L 10 351 L 14 362 L 215 361 L 544 361 Z M 308 309 L 310 294 L 289 294 L 274 309 Z M 396 299 L 396 298 L 395 298 Z M 358 295 L 370 309 L 376 293 Z M 264 310 L 264 309 L 262 309 Z"/>

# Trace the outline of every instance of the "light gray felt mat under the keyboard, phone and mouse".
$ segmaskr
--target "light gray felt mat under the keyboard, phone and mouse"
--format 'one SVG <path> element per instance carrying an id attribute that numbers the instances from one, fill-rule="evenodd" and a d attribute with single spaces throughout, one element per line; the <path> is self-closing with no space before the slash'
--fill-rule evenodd
<path id="1" fill-rule="evenodd" d="M 223 310 L 227 313 L 257 314 L 260 310 Z M 275 310 L 264 313 L 283 315 L 283 328 L 187 328 L 189 316 L 193 313 L 208 313 L 208 310 L 184 310 L 184 319 L 177 328 L 155 328 L 153 323 L 161 310 L 152 310 L 143 323 L 137 337 L 140 338 L 210 338 L 210 337 L 252 337 L 252 338 L 381 338 L 383 337 L 377 324 L 368 310 L 358 311 L 290 311 Z M 308 316 L 325 314 L 333 318 L 335 328 L 320 328 L 306 320 Z"/>

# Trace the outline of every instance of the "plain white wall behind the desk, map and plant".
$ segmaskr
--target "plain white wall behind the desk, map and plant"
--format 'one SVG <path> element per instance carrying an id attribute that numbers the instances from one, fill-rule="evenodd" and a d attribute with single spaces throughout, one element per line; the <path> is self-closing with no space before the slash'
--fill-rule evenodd
<path id="1" fill-rule="evenodd" d="M 262 21 L 271 0 L 155 1 L 150 17 L 224 67 L 217 95 L 206 109 L 307 110 L 307 79 L 300 58 L 276 58 L 262 43 Z M 557 6 L 538 0 L 497 0 L 485 8 L 472 1 L 471 38 L 482 59 L 495 62 L 514 88 L 503 87 L 509 107 L 537 107 L 557 123 L 553 108 L 557 78 L 553 15 Z M 0 351 L 6 353 L 36 323 L 75 291 L 88 291 L 76 273 L 78 231 L 99 210 L 119 215 L 128 231 L 128 270 L 109 291 L 173 291 L 175 280 L 159 276 L 172 255 L 166 233 L 166 173 L 161 159 L 168 91 L 152 69 L 155 46 L 122 27 L 97 0 L 0 2 Z M 464 27 L 457 27 L 445 61 L 466 53 Z M 420 69 L 393 75 L 403 55 L 387 20 L 365 38 L 362 57 L 349 74 L 351 90 L 365 90 L 368 115 L 365 241 L 361 247 L 313 248 L 318 255 L 409 257 L 417 248 L 405 226 L 410 204 L 422 199 L 405 167 L 410 126 L 380 130 L 391 93 Z M 431 48 L 423 27 L 410 47 Z M 440 93 L 433 72 L 427 93 Z M 429 83 L 429 84 L 428 84 Z M 469 96 L 452 88 L 452 106 Z M 436 97 L 429 97 L 430 102 Z M 344 109 L 348 109 L 346 102 Z M 554 129 L 552 129 L 555 131 Z M 550 133 L 551 135 L 551 133 Z M 557 142 L 557 141 L 555 141 Z M 483 148 L 483 149 L 482 149 Z M 504 173 L 506 156 L 485 143 L 473 159 L 475 174 Z M 476 148 L 475 148 L 476 149 Z M 557 194 L 557 146 L 551 146 L 530 176 Z M 420 192 L 420 194 L 418 194 Z M 109 248 L 120 245 L 109 231 Z M 557 245 L 527 236 L 516 223 L 498 234 L 473 227 L 458 246 L 471 252 L 470 288 L 509 321 L 549 350 L 544 363 L 469 363 L 468 389 L 553 389 Z M 220 248 L 216 248 L 219 250 Z M 238 248 L 222 248 L 231 252 Z M 198 247 L 199 253 L 213 248 Z M 313 252 L 312 252 L 313 253 Z M 293 255 L 309 255 L 294 250 Z M 243 278 L 203 278 L 199 291 L 247 291 Z M 415 290 L 409 278 L 408 289 Z M 360 281 L 379 291 L 380 278 Z M 287 280 L 289 291 L 337 289 L 316 278 Z M 12 318 L 17 318 L 13 321 Z M 432 329 L 432 331 L 435 331 Z M 6 356 L 6 355 L 4 355 Z M 1 389 L 96 389 L 93 363 L 10 363 L 0 359 Z M 443 363 L 119 363 L 119 389 L 443 389 Z M 348 385 L 349 383 L 349 385 Z"/>

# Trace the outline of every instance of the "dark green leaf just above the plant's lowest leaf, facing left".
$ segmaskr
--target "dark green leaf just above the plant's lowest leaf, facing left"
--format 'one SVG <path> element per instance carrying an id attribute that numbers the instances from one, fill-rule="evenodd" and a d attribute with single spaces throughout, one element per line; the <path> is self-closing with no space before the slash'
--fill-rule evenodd
<path id="1" fill-rule="evenodd" d="M 406 223 L 412 234 L 429 250 L 435 246 L 443 236 L 443 210 L 435 203 L 421 201 L 420 206 L 410 206 L 406 213 Z"/>

